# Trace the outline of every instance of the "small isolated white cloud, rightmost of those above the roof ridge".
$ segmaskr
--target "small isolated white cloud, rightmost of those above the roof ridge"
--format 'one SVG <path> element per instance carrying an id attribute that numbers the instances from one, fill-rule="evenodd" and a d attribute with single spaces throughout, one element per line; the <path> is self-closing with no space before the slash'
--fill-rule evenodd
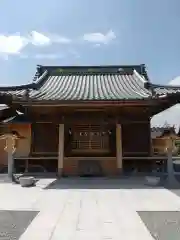
<path id="1" fill-rule="evenodd" d="M 116 38 L 115 33 L 110 30 L 106 34 L 103 33 L 86 33 L 83 36 L 84 41 L 92 42 L 95 44 L 108 44 Z"/>

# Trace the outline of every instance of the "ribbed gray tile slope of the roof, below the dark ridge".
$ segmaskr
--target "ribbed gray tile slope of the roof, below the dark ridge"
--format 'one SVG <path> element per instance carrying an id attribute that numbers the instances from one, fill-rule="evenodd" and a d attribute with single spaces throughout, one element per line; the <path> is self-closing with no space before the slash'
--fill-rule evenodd
<path id="1" fill-rule="evenodd" d="M 137 72 L 59 74 L 47 77 L 30 96 L 39 100 L 121 100 L 151 96 Z"/>

